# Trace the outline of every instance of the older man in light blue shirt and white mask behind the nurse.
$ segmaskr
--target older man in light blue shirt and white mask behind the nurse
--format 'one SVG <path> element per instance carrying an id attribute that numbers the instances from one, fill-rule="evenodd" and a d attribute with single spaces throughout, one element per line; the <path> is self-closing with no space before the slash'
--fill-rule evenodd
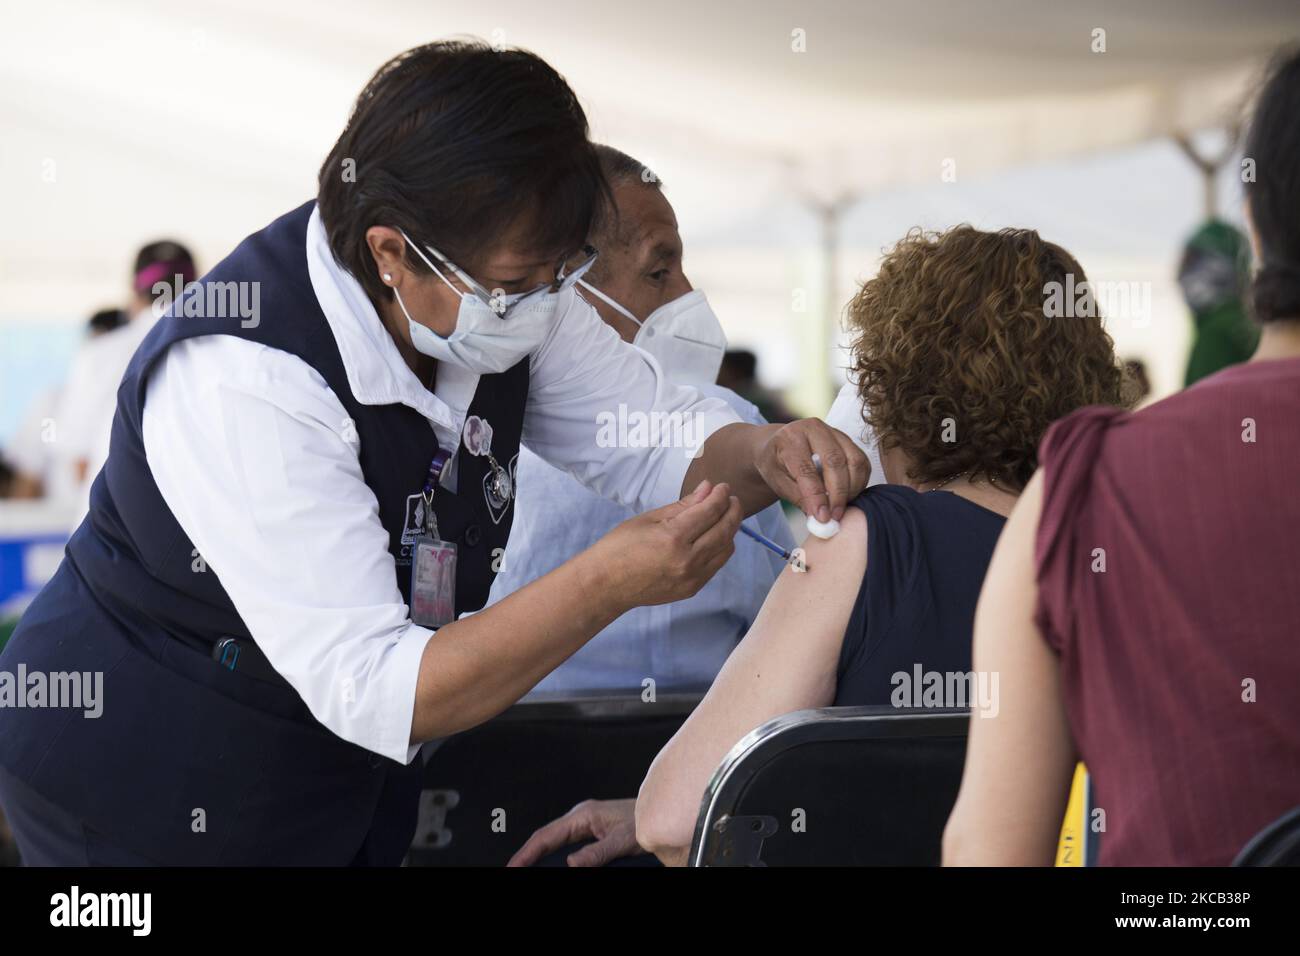
<path id="1" fill-rule="evenodd" d="M 614 206 L 592 245 L 601 258 L 578 281 L 578 295 L 624 342 L 649 352 L 666 378 L 720 398 L 751 424 L 767 424 L 734 392 L 714 385 L 727 339 L 705 294 L 682 271 L 681 235 L 656 177 L 630 156 L 597 146 Z M 634 511 L 588 490 L 528 449 L 519 453 L 519 494 L 506 558 L 488 604 L 500 601 L 590 548 Z M 751 524 L 786 550 L 794 548 L 780 506 Z M 685 601 L 628 611 L 551 671 L 537 692 L 640 692 L 707 687 L 754 622 L 785 563 L 746 542 L 699 593 Z"/>

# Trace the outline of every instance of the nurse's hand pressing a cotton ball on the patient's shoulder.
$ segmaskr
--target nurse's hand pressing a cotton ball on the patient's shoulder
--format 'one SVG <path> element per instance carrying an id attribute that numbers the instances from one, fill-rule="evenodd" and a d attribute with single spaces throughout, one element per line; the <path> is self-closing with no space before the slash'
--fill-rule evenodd
<path id="1" fill-rule="evenodd" d="M 871 476 L 871 463 L 853 438 L 820 419 L 792 421 L 775 432 L 754 464 L 768 488 L 819 522 L 844 518 L 845 505 Z"/>

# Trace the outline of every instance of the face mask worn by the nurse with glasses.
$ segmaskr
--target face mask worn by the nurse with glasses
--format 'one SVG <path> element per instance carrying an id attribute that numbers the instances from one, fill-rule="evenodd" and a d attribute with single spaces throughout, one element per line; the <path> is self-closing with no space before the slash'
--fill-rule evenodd
<path id="1" fill-rule="evenodd" d="M 421 325 L 412 319 L 411 313 L 407 312 L 406 303 L 402 302 L 400 293 L 393 289 L 402 315 L 406 316 L 411 329 L 411 345 L 417 352 L 438 359 L 438 362 L 468 368 L 478 375 L 493 375 L 515 367 L 541 347 L 551 330 L 559 293 L 497 297 L 503 307 L 508 307 L 508 315 L 502 317 L 473 293 L 456 289 L 442 274 L 442 271 L 429 261 L 424 251 L 411 242 L 406 233 L 402 233 L 402 238 L 424 260 L 424 264 L 460 297 L 456 328 L 448 337 L 443 338 L 428 325 Z M 459 274 L 459 269 L 456 272 Z M 472 281 L 463 274 L 459 277 L 467 282 Z"/>

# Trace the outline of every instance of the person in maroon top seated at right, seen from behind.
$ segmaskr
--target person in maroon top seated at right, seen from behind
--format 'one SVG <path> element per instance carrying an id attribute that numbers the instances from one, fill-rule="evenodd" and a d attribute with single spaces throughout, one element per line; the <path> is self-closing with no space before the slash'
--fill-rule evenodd
<path id="1" fill-rule="evenodd" d="M 1226 865 L 1300 805 L 1300 55 L 1244 155 L 1258 350 L 1044 436 L 975 615 L 1000 708 L 971 721 L 945 864 L 1050 865 L 1076 760 L 1102 864 Z"/>

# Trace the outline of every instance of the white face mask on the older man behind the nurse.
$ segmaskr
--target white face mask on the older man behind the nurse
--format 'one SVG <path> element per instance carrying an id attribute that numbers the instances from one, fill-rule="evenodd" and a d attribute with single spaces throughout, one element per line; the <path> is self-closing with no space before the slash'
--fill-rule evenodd
<path id="1" fill-rule="evenodd" d="M 727 351 L 727 334 L 701 290 L 694 289 L 666 302 L 641 321 L 595 286 L 582 280 L 578 285 L 637 324 L 632 345 L 659 359 L 664 376 L 673 385 L 712 385 L 718 381 L 718 369 Z"/>

